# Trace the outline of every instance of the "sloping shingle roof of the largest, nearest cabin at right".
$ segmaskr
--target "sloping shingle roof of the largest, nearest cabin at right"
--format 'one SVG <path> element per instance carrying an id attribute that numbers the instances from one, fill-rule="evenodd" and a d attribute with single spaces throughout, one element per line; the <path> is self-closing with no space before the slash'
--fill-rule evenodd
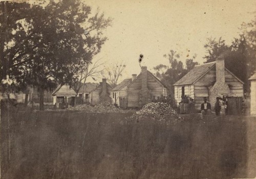
<path id="1" fill-rule="evenodd" d="M 177 81 L 174 86 L 193 84 L 199 77 L 207 73 L 214 65 L 215 61 L 196 65 L 194 69 L 190 70 L 185 76 Z"/>

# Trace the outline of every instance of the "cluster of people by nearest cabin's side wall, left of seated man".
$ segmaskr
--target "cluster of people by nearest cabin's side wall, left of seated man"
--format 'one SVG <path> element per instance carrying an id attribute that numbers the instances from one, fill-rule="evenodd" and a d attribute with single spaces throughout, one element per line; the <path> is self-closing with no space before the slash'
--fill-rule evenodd
<path id="1" fill-rule="evenodd" d="M 181 97 L 180 101 L 180 114 L 196 113 L 195 101 L 193 98 L 189 98 L 185 95 Z"/>

